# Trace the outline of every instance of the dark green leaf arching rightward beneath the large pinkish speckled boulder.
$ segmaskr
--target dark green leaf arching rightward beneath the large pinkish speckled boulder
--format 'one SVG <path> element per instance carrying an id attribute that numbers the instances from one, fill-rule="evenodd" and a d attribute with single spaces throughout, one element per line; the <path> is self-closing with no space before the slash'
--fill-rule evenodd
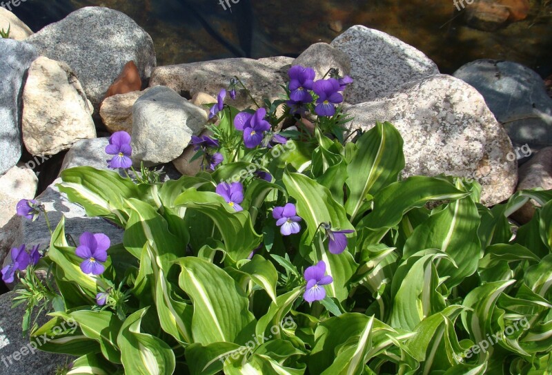
<path id="1" fill-rule="evenodd" d="M 405 213 L 432 200 L 459 200 L 469 192 L 460 191 L 437 177 L 413 176 L 394 182 L 374 195 L 374 209 L 359 225 L 369 229 L 392 228 Z"/>

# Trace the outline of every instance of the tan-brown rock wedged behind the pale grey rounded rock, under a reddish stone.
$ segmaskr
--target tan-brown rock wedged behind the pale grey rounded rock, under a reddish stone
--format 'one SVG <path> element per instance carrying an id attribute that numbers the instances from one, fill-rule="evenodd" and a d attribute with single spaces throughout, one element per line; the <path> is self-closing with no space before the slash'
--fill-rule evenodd
<path id="1" fill-rule="evenodd" d="M 103 100 L 99 108 L 99 115 L 110 133 L 126 131 L 128 134 L 132 134 L 132 106 L 149 89 L 116 94 Z"/>

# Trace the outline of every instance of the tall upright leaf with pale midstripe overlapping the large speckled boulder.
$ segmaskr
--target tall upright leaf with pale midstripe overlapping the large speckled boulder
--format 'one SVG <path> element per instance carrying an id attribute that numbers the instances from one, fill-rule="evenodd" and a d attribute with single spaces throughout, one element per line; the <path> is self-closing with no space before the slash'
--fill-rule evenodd
<path id="1" fill-rule="evenodd" d="M 374 195 L 396 182 L 404 169 L 402 137 L 389 122 L 376 122 L 356 142 L 357 153 L 347 166 L 347 186 L 351 190 L 346 202 L 347 213 L 354 221 L 362 213 L 366 195 Z"/>

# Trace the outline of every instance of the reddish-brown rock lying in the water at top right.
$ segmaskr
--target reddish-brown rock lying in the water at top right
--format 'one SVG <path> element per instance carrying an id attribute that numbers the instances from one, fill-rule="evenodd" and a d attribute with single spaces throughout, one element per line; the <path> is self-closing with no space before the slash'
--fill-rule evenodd
<path id="1" fill-rule="evenodd" d="M 477 30 L 495 31 L 509 21 L 525 19 L 529 8 L 528 0 L 475 0 L 466 4 L 464 19 Z"/>

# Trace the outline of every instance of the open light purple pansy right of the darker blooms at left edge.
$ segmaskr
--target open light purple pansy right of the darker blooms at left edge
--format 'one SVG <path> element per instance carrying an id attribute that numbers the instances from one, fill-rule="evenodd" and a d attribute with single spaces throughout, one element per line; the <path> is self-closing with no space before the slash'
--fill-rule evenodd
<path id="1" fill-rule="evenodd" d="M 75 253 L 79 258 L 84 259 L 81 262 L 83 273 L 101 275 L 106 270 L 101 263 L 108 259 L 107 250 L 111 246 L 109 237 L 103 233 L 84 232 L 79 238 L 79 243 Z"/>

